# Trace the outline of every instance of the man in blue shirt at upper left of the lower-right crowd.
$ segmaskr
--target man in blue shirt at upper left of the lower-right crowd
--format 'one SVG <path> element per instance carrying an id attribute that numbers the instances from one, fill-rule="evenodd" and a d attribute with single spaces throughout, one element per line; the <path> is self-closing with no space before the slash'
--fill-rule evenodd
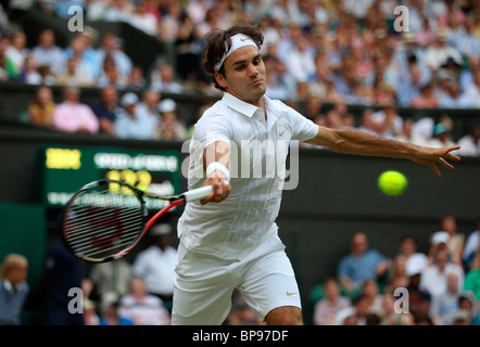
<path id="1" fill-rule="evenodd" d="M 376 249 L 369 249 L 367 235 L 355 233 L 351 239 L 351 254 L 340 260 L 337 278 L 353 293 L 366 280 L 378 280 L 386 274 L 390 260 Z"/>

